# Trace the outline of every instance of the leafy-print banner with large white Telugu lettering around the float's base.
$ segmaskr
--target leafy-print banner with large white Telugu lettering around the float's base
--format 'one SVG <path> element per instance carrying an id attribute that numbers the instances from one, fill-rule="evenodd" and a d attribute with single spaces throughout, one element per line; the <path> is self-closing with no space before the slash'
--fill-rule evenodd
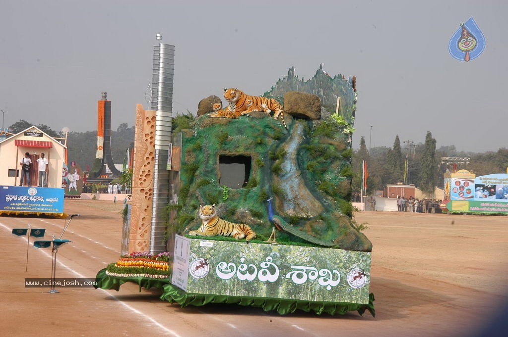
<path id="1" fill-rule="evenodd" d="M 367 304 L 370 252 L 176 236 L 172 283 L 188 293 Z"/>

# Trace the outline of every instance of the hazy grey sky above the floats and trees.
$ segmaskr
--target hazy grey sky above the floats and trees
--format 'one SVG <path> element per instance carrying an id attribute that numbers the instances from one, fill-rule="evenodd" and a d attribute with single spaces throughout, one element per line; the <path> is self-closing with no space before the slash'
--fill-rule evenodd
<path id="1" fill-rule="evenodd" d="M 358 78 L 355 149 L 361 136 L 392 146 L 431 131 L 438 147 L 496 151 L 508 126 L 506 13 L 500 0 L 0 0 L 0 109 L 6 127 L 92 131 L 106 91 L 112 128 L 132 126 L 160 31 L 176 46 L 173 113 L 195 114 L 224 87 L 260 95 L 291 66 L 309 79 L 325 63 Z M 448 42 L 470 16 L 486 48 L 460 62 Z"/>

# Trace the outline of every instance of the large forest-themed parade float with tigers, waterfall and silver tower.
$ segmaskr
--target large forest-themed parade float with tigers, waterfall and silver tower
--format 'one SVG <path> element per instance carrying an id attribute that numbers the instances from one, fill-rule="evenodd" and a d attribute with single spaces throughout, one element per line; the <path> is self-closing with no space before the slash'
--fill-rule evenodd
<path id="1" fill-rule="evenodd" d="M 197 118 L 174 117 L 173 60 L 174 46 L 154 47 L 132 207 L 101 288 L 134 282 L 183 307 L 374 315 L 372 244 L 352 220 L 356 78 L 321 65 L 304 81 L 291 68 L 262 96 L 218 87 Z"/>

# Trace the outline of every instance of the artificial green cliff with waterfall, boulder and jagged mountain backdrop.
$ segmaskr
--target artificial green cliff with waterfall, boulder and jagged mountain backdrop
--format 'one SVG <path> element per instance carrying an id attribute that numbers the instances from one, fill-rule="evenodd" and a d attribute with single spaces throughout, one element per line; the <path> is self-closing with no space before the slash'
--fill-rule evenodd
<path id="1" fill-rule="evenodd" d="M 210 118 L 209 102 L 221 98 L 200 103 L 200 116 L 182 130 L 178 205 L 168 206 L 178 213 L 168 232 L 198 228 L 199 205 L 215 204 L 219 217 L 248 224 L 258 234 L 253 242 L 262 243 L 272 232 L 267 200 L 273 197 L 274 213 L 291 228 L 277 233 L 279 244 L 370 251 L 370 241 L 352 221 L 354 81 L 331 78 L 321 67 L 311 80 L 298 80 L 291 68 L 265 96 L 283 101 L 288 130 L 262 112 Z M 230 163 L 242 168 L 237 188 L 223 181 L 232 174 L 223 164 Z"/>

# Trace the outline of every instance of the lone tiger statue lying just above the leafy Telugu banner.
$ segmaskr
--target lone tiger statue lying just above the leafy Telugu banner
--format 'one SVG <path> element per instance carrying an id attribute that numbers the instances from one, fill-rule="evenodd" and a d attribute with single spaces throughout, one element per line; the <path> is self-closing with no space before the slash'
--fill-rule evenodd
<path id="1" fill-rule="evenodd" d="M 190 231 L 190 236 L 226 236 L 237 240 L 245 238 L 250 241 L 256 238 L 256 233 L 244 223 L 233 223 L 223 220 L 217 216 L 215 205 L 199 206 L 199 217 L 201 218 L 201 227 L 196 231 Z"/>

